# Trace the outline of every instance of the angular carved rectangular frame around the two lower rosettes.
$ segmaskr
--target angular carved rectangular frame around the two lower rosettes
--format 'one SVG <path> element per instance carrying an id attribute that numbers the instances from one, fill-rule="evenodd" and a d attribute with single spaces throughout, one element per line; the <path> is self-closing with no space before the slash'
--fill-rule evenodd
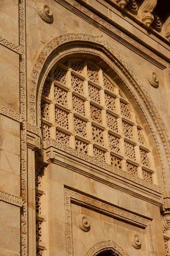
<path id="1" fill-rule="evenodd" d="M 133 214 L 131 212 L 119 209 L 113 205 L 104 203 L 97 199 L 91 198 L 89 196 L 80 194 L 76 191 L 65 188 L 65 218 L 66 218 L 66 245 L 67 245 L 67 255 L 73 256 L 73 241 L 72 241 L 72 221 L 71 221 L 71 198 L 73 200 L 77 200 L 79 202 L 91 205 L 93 208 L 96 207 L 100 210 L 107 211 L 113 215 L 113 217 L 123 217 L 125 221 L 130 221 L 132 223 L 138 223 L 148 228 L 148 232 L 150 234 L 150 243 L 152 247 L 152 256 L 155 256 L 155 249 L 153 243 L 153 230 L 152 230 L 152 221 Z"/>

